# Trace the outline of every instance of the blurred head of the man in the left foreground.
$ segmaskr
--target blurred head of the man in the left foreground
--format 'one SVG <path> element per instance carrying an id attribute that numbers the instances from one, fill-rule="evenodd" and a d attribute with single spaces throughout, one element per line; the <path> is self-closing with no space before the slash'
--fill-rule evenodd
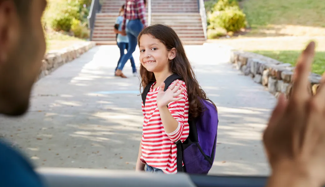
<path id="1" fill-rule="evenodd" d="M 45 0 L 0 0 L 0 113 L 24 114 L 45 53 Z"/>

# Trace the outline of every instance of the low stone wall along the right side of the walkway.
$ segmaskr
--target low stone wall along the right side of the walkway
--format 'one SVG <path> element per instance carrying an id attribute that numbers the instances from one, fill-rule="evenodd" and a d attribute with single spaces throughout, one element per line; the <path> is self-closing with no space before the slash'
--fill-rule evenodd
<path id="1" fill-rule="evenodd" d="M 230 63 L 244 75 L 251 76 L 254 82 L 262 84 L 267 90 L 279 96 L 285 93 L 288 97 L 292 88 L 292 77 L 295 67 L 275 59 L 250 52 L 231 51 Z M 310 87 L 314 95 L 319 87 L 321 76 L 311 73 L 309 76 Z"/>

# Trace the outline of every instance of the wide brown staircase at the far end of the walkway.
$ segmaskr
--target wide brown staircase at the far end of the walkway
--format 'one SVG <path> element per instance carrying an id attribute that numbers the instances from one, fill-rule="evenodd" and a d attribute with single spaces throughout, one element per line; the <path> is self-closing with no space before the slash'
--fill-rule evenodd
<path id="1" fill-rule="evenodd" d="M 116 44 L 113 26 L 125 0 L 105 0 L 96 14 L 92 40 L 98 45 Z M 148 20 L 148 5 L 147 5 Z M 197 0 L 151 0 L 151 25 L 172 27 L 184 44 L 202 44 L 205 36 Z"/>

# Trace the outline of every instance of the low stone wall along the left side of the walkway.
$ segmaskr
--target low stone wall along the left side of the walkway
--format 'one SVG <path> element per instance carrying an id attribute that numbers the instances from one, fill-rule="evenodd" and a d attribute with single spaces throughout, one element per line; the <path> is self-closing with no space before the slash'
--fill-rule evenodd
<path id="1" fill-rule="evenodd" d="M 42 61 L 42 67 L 36 81 L 50 74 L 61 65 L 70 62 L 75 58 L 78 58 L 81 54 L 87 52 L 95 45 L 95 42 L 87 41 L 64 48 L 62 50 L 51 51 L 45 54 L 45 57 Z"/>

